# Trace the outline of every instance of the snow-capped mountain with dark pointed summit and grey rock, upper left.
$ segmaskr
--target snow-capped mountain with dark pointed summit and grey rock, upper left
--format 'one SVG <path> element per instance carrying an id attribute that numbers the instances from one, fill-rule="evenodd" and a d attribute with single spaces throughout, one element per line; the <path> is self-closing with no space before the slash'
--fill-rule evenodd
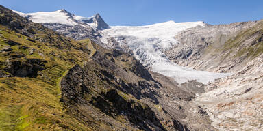
<path id="1" fill-rule="evenodd" d="M 64 9 L 55 12 L 36 12 L 29 14 L 13 11 L 32 20 L 34 23 L 42 23 L 45 27 L 75 40 L 90 38 L 101 44 L 101 35 L 98 33 L 98 30 L 109 28 L 99 14 L 85 18 L 71 14 Z"/>

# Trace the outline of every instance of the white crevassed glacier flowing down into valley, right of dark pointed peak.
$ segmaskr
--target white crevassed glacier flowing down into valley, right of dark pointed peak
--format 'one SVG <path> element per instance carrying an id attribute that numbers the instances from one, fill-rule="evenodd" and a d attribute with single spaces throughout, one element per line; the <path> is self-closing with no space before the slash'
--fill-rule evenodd
<path id="1" fill-rule="evenodd" d="M 150 70 L 174 78 L 177 83 L 196 80 L 201 83 L 214 81 L 230 74 L 212 73 L 179 66 L 164 54 L 164 51 L 177 44 L 175 35 L 190 27 L 203 26 L 203 22 L 175 23 L 168 21 L 147 26 L 112 26 L 101 31 L 103 38 L 113 37 L 118 44 L 127 44 L 135 57 Z"/>

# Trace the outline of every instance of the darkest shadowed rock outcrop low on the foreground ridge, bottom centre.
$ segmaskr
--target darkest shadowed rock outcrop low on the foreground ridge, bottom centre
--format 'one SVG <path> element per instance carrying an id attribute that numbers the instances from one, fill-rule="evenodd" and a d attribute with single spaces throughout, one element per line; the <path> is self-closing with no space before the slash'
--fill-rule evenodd
<path id="1" fill-rule="evenodd" d="M 151 130 L 145 124 L 147 121 L 151 121 L 160 130 L 165 130 L 160 120 L 147 104 L 140 104 L 134 102 L 134 100 L 125 100 L 122 96 L 118 95 L 115 89 L 110 89 L 107 93 L 101 93 L 101 96 L 93 97 L 90 100 L 90 104 L 93 104 L 107 115 L 116 117 L 116 115 L 120 115 L 121 113 L 125 114 L 129 121 L 139 126 L 142 130 Z"/>

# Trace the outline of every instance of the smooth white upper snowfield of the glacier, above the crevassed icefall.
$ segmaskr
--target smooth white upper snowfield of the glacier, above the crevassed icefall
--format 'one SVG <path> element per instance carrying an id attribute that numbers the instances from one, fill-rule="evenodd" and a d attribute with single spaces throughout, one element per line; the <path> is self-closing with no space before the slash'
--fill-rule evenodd
<path id="1" fill-rule="evenodd" d="M 175 40 L 174 37 L 179 31 L 204 25 L 205 23 L 202 21 L 186 23 L 167 21 L 164 23 L 145 26 L 112 26 L 110 29 L 103 30 L 103 33 L 112 36 L 140 38 L 143 42 L 148 41 L 149 44 L 155 44 L 162 49 L 168 49 L 173 46 L 173 44 L 177 43 L 177 40 Z"/>

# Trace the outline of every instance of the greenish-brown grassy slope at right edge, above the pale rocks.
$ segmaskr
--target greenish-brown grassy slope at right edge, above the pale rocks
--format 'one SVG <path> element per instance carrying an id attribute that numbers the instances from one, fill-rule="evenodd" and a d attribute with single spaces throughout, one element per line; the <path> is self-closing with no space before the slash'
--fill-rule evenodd
<path id="1" fill-rule="evenodd" d="M 211 53 L 212 55 L 224 54 L 222 59 L 236 59 L 242 56 L 248 59 L 258 57 L 263 53 L 262 29 L 263 21 L 260 21 L 253 27 L 240 31 L 236 37 L 230 38 L 219 48 L 213 47 L 213 45 L 208 46 L 208 48 L 205 49 L 205 53 Z M 254 36 L 256 37 L 253 38 Z M 245 45 L 247 40 L 251 38 L 253 38 L 253 40 L 251 40 L 253 44 Z"/>

